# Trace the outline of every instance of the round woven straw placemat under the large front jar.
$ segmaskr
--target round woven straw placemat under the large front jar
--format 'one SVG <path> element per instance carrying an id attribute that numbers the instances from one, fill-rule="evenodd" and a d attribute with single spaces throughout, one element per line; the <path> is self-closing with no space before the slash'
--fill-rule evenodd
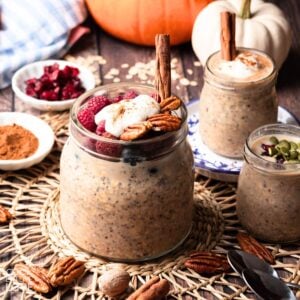
<path id="1" fill-rule="evenodd" d="M 49 267 L 57 257 L 68 255 L 84 260 L 86 272 L 74 285 L 55 291 L 47 299 L 105 299 L 97 281 L 103 271 L 116 263 L 78 249 L 60 226 L 59 158 L 67 137 L 68 114 L 45 114 L 42 118 L 56 134 L 51 154 L 30 169 L 0 173 L 0 204 L 15 217 L 0 227 L 0 299 L 46 299 L 15 278 L 14 264 L 25 262 Z M 242 230 L 235 213 L 234 185 L 196 175 L 194 200 L 193 230 L 179 249 L 148 263 L 122 264 L 131 275 L 131 290 L 156 274 L 172 284 L 168 299 L 253 299 L 234 272 L 204 277 L 184 267 L 191 251 L 213 249 L 226 253 L 238 248 L 236 234 Z M 299 284 L 300 243 L 267 247 L 276 256 L 274 267 L 281 277 Z"/>

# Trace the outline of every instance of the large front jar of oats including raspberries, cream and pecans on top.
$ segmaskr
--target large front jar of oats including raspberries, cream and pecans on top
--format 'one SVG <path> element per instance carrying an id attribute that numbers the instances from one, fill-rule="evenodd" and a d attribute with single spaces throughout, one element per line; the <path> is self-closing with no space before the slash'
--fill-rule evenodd
<path id="1" fill-rule="evenodd" d="M 80 248 L 119 261 L 161 256 L 191 229 L 193 156 L 181 100 L 111 84 L 80 97 L 61 157 L 60 214 Z"/>

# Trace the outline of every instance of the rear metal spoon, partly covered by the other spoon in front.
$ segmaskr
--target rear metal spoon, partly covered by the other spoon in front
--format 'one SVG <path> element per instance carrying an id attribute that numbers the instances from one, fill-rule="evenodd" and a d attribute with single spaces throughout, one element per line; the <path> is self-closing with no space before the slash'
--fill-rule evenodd
<path id="1" fill-rule="evenodd" d="M 227 259 L 231 267 L 242 276 L 243 270 L 251 269 L 267 273 L 279 279 L 277 272 L 264 260 L 259 259 L 257 256 L 239 250 L 229 250 Z M 286 285 L 300 289 L 299 284 L 284 282 Z"/>

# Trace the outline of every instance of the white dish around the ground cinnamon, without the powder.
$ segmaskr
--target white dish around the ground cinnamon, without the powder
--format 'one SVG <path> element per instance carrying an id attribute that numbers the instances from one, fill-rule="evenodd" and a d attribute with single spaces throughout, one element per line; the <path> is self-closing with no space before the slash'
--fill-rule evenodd
<path id="1" fill-rule="evenodd" d="M 26 169 L 41 162 L 51 151 L 54 133 L 43 120 L 30 114 L 20 112 L 0 112 L 0 126 L 17 124 L 31 131 L 39 140 L 38 149 L 34 154 L 23 159 L 0 159 L 0 170 Z"/>

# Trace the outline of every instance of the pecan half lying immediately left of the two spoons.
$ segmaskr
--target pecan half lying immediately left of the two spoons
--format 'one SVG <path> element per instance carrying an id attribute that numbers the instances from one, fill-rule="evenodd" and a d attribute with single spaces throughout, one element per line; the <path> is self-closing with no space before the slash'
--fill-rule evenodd
<path id="1" fill-rule="evenodd" d="M 230 270 L 226 256 L 213 252 L 192 253 L 184 265 L 199 274 L 205 275 L 226 273 Z"/>

